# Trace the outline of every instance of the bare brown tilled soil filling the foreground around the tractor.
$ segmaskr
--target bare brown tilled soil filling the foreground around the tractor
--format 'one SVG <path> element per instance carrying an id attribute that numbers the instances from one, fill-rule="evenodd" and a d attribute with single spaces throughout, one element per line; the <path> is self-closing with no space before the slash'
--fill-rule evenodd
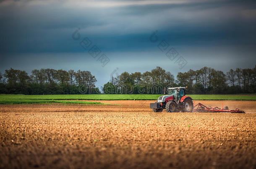
<path id="1" fill-rule="evenodd" d="M 256 168 L 256 101 L 200 101 L 246 114 L 100 102 L 117 105 L 0 105 L 0 168 Z"/>

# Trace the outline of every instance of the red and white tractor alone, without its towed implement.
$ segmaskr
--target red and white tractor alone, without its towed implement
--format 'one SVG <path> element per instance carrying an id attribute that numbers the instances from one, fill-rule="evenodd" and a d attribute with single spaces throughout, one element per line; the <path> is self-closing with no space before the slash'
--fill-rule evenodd
<path id="1" fill-rule="evenodd" d="M 154 112 L 162 112 L 163 109 L 166 112 L 192 112 L 193 101 L 190 96 L 185 96 L 185 89 L 187 87 L 173 87 L 164 90 L 163 96 L 157 99 L 157 102 L 150 103 L 150 108 Z"/>

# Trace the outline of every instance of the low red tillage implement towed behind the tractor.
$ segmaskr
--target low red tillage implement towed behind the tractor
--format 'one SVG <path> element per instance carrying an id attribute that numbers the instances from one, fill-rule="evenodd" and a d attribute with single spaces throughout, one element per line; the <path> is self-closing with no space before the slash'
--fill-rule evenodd
<path id="1" fill-rule="evenodd" d="M 239 110 L 236 108 L 235 110 L 229 110 L 227 106 L 223 108 L 223 103 L 222 103 L 222 108 L 219 107 L 211 107 L 211 106 L 205 106 L 202 103 L 198 103 L 196 106 L 194 106 L 193 111 L 195 112 L 224 112 L 224 113 L 245 113 L 242 110 Z"/>

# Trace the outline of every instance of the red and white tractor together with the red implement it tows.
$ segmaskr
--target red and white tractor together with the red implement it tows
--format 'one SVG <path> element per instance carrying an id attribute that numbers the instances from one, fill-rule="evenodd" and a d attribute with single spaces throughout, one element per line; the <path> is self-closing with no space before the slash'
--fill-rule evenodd
<path id="1" fill-rule="evenodd" d="M 185 96 L 185 89 L 187 87 L 173 87 L 167 88 L 167 94 L 159 96 L 155 103 L 150 103 L 150 108 L 154 112 L 162 112 L 163 109 L 166 112 L 224 112 L 224 113 L 245 113 L 244 111 L 236 108 L 235 110 L 229 110 L 227 106 L 223 108 L 205 106 L 202 103 L 198 103 L 193 106 L 193 101 L 190 96 Z"/>

